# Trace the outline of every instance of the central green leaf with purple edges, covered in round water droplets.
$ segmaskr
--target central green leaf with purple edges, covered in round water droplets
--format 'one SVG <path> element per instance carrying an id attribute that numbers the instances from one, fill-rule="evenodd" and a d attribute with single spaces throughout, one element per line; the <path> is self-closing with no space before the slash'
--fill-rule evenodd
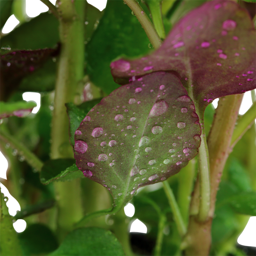
<path id="1" fill-rule="evenodd" d="M 121 207 L 139 187 L 167 179 L 196 156 L 198 121 L 177 76 L 145 75 L 90 110 L 75 132 L 76 165 Z"/>

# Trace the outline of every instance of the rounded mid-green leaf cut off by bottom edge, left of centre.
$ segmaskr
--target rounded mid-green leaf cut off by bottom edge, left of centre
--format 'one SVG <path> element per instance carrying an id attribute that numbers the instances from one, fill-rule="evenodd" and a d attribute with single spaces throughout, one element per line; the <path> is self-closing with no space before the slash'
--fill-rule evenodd
<path id="1" fill-rule="evenodd" d="M 69 233 L 60 247 L 49 256 L 125 256 L 121 244 L 109 231 L 80 228 Z"/>

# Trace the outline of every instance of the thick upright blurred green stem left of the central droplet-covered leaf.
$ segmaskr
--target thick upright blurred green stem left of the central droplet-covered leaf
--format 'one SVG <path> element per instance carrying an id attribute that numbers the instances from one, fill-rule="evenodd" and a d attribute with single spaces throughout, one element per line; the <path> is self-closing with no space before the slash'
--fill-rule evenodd
<path id="1" fill-rule="evenodd" d="M 73 157 L 69 144 L 69 121 L 65 103 L 74 102 L 78 85 L 84 76 L 84 0 L 62 0 L 60 15 L 61 50 L 55 85 L 54 111 L 52 118 L 51 158 Z M 76 11 L 78 10 L 78 11 Z M 58 207 L 58 234 L 60 240 L 83 216 L 80 179 L 54 183 Z"/>

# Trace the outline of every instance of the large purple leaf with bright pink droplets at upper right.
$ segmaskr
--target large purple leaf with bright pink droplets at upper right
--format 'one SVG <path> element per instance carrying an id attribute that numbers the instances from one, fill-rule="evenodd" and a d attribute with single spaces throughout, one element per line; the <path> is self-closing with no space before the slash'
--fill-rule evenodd
<path id="1" fill-rule="evenodd" d="M 153 71 L 176 71 L 201 111 L 215 98 L 256 88 L 256 31 L 248 12 L 214 0 L 180 20 L 152 54 L 111 63 L 119 84 Z"/>

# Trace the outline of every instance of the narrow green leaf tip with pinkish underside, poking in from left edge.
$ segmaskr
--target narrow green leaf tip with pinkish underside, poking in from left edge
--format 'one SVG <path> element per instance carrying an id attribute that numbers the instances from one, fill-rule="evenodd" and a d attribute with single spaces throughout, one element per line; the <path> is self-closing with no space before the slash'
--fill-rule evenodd
<path id="1" fill-rule="evenodd" d="M 0 119 L 9 116 L 26 117 L 34 107 L 35 101 L 2 102 L 0 101 Z"/>

